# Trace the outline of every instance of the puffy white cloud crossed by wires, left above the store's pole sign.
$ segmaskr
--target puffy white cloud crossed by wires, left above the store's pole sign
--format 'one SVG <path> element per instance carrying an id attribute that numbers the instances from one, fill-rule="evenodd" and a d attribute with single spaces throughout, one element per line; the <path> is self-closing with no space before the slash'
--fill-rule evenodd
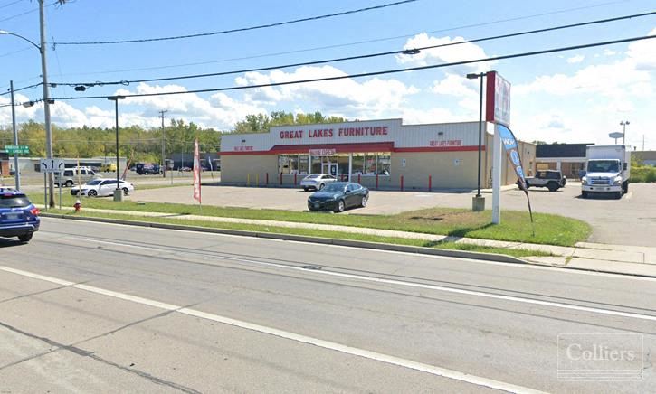
<path id="1" fill-rule="evenodd" d="M 425 66 L 435 63 L 451 63 L 456 61 L 471 61 L 475 59 L 487 59 L 489 56 L 478 45 L 464 42 L 462 37 L 433 37 L 426 33 L 415 35 L 413 38 L 405 42 L 404 49 L 423 48 L 434 45 L 446 45 L 440 48 L 432 48 L 422 50 L 414 55 L 397 55 L 396 61 L 401 64 L 408 64 L 411 66 Z M 489 70 L 490 65 L 495 64 L 496 61 L 486 61 L 484 63 L 472 63 L 463 65 L 467 70 Z"/>

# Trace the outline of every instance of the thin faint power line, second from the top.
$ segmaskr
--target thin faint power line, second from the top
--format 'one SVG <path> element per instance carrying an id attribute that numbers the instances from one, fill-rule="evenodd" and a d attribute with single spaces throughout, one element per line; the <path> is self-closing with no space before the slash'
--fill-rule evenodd
<path id="1" fill-rule="evenodd" d="M 561 9 L 561 10 L 551 11 L 551 12 L 548 12 L 548 13 L 517 16 L 517 17 L 513 17 L 513 18 L 509 18 L 509 19 L 498 19 L 498 20 L 492 21 L 492 22 L 467 24 L 467 25 L 461 25 L 461 26 L 453 26 L 453 27 L 449 27 L 449 28 L 446 28 L 446 29 L 433 30 L 433 31 L 429 31 L 429 32 L 419 32 L 419 33 L 427 33 L 427 34 L 444 33 L 444 32 L 450 32 L 450 31 L 453 31 L 453 30 L 467 29 L 467 28 L 471 28 L 471 27 L 480 27 L 480 26 L 486 26 L 486 25 L 496 24 L 496 23 L 514 22 L 514 21 L 520 21 L 520 20 L 525 20 L 525 19 L 537 18 L 537 17 L 540 17 L 540 16 L 548 16 L 548 15 L 553 15 L 553 14 L 565 14 L 565 13 L 569 13 L 569 12 L 572 12 L 572 11 L 580 11 L 580 10 L 585 10 L 585 9 L 590 9 L 590 8 L 595 8 L 595 7 L 601 7 L 601 6 L 604 6 L 604 5 L 613 5 L 613 4 L 617 4 L 617 3 L 623 3 L 623 1 L 624 0 L 602 3 L 602 4 L 599 4 L 599 5 L 585 5 L 585 6 L 581 6 L 581 7 L 565 8 L 565 9 Z M 245 61 L 245 60 L 261 59 L 261 58 L 272 57 L 272 56 L 288 55 L 288 54 L 292 54 L 292 53 L 313 52 L 313 51 L 322 51 L 322 50 L 327 50 L 327 49 L 343 48 L 343 47 L 347 47 L 347 46 L 360 45 L 360 44 L 363 44 L 363 43 L 392 41 L 392 40 L 398 40 L 398 39 L 401 39 L 401 38 L 413 37 L 413 36 L 415 36 L 419 33 L 410 33 L 410 34 L 398 35 L 398 36 L 394 36 L 394 37 L 377 38 L 377 39 L 374 39 L 374 40 L 367 40 L 367 41 L 360 41 L 360 42 L 347 42 L 347 43 L 325 45 L 325 46 L 319 46 L 319 47 L 313 47 L 313 48 L 303 48 L 303 49 L 299 49 L 299 50 L 292 50 L 292 51 L 285 51 L 285 52 L 270 52 L 270 53 L 263 53 L 263 54 L 259 54 L 259 55 L 242 56 L 242 57 L 239 57 L 239 58 L 221 59 L 221 60 L 218 60 L 218 61 L 196 61 L 196 62 L 192 62 L 192 63 L 181 63 L 181 64 L 166 65 L 166 66 L 154 66 L 154 67 L 142 67 L 142 68 L 138 68 L 138 69 L 109 70 L 109 71 L 102 71 L 102 72 L 84 72 L 84 73 L 77 73 L 75 75 L 99 75 L 99 74 L 110 74 L 110 73 L 131 72 L 131 71 L 163 70 L 163 69 L 173 69 L 173 68 L 187 67 L 187 66 L 202 66 L 202 65 L 205 65 L 205 64 L 223 63 L 223 62 L 227 62 L 227 61 Z"/>

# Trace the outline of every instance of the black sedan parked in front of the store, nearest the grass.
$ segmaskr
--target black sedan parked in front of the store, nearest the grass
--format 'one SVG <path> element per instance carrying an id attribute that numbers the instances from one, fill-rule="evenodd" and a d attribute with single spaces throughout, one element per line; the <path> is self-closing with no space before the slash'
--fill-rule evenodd
<path id="1" fill-rule="evenodd" d="M 309 211 L 343 212 L 350 207 L 366 207 L 369 189 L 359 183 L 328 183 L 321 191 L 308 197 Z"/>

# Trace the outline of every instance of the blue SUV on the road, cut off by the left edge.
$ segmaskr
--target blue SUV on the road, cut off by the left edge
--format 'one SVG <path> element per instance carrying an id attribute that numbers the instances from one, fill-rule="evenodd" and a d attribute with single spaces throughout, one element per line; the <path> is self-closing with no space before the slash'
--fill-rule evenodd
<path id="1" fill-rule="evenodd" d="M 22 242 L 29 241 L 34 231 L 39 230 L 40 212 L 23 192 L 0 187 L 1 237 L 18 237 Z"/>

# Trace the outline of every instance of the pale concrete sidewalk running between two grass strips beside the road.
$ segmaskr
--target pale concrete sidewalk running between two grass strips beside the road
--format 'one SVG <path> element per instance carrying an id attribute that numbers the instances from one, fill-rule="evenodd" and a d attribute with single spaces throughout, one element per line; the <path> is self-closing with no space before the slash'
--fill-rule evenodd
<path id="1" fill-rule="evenodd" d="M 40 207 L 42 208 L 42 207 Z M 72 208 L 66 207 L 66 210 Z M 528 249 L 552 253 L 554 257 L 528 257 L 528 263 L 551 267 L 566 267 L 586 271 L 617 273 L 623 275 L 638 275 L 656 277 L 656 248 L 623 245 L 608 245 L 600 243 L 579 242 L 574 247 L 531 244 L 522 242 L 498 241 L 491 239 L 454 238 L 444 235 L 424 234 L 409 231 L 368 229 L 362 227 L 338 226 L 330 224 L 302 223 L 280 220 L 254 220 L 240 218 L 223 218 L 201 215 L 177 215 L 161 212 L 116 211 L 85 208 L 84 211 L 99 213 L 115 213 L 130 216 L 147 216 L 170 218 L 176 220 L 204 220 L 226 223 L 244 223 L 261 226 L 286 227 L 293 229 L 313 229 L 340 231 L 348 233 L 363 233 L 381 237 L 404 239 L 423 239 L 435 242 L 456 242 L 481 246 Z"/>

